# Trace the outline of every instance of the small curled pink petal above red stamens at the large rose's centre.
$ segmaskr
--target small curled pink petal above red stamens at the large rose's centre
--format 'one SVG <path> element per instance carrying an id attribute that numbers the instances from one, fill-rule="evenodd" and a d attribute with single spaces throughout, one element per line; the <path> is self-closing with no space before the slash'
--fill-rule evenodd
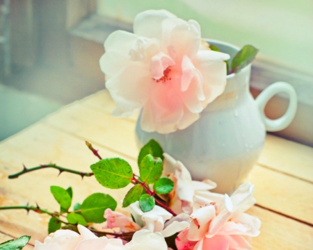
<path id="1" fill-rule="evenodd" d="M 162 76 L 164 76 L 164 71 L 168 68 L 168 66 L 175 65 L 175 61 L 170 58 L 170 56 L 166 55 L 166 53 L 159 52 L 155 56 L 152 57 L 150 71 L 151 77 L 159 80 Z"/>

